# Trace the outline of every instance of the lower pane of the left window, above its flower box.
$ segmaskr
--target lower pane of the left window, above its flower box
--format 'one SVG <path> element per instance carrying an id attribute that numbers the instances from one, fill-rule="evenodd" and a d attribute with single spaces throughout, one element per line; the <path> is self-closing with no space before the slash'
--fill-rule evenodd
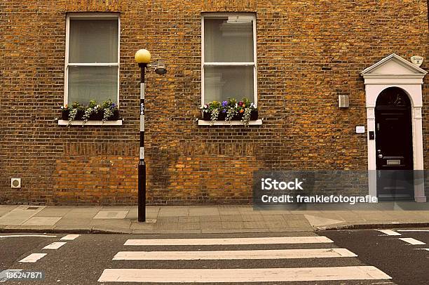
<path id="1" fill-rule="evenodd" d="M 118 99 L 118 67 L 69 67 L 68 102 Z"/>

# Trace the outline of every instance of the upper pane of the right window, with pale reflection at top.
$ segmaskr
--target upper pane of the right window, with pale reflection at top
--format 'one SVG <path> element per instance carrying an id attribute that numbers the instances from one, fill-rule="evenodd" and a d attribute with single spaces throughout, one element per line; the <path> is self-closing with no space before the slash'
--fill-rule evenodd
<path id="1" fill-rule="evenodd" d="M 252 17 L 204 19 L 205 62 L 253 62 Z"/>

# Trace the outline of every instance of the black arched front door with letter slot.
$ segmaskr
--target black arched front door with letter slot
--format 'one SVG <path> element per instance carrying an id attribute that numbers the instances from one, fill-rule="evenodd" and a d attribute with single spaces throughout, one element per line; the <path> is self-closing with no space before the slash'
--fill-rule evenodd
<path id="1" fill-rule="evenodd" d="M 375 108 L 377 197 L 414 197 L 411 102 L 400 88 L 387 88 Z"/>

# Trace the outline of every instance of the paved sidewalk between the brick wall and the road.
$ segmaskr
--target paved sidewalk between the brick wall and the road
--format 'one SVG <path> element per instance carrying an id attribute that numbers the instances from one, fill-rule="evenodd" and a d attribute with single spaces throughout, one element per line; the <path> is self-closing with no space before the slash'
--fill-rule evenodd
<path id="1" fill-rule="evenodd" d="M 428 206 L 408 211 L 416 208 L 413 205 L 416 203 L 371 204 L 349 210 L 313 207 L 306 211 L 264 211 L 250 205 L 147 206 L 146 223 L 137 222 L 137 206 L 0 205 L 0 232 L 222 234 L 428 227 Z"/>

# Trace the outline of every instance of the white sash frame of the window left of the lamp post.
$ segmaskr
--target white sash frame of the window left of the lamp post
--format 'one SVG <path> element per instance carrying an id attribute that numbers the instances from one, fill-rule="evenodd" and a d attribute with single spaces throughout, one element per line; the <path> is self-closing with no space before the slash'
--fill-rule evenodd
<path id="1" fill-rule="evenodd" d="M 103 63 L 69 63 L 69 41 L 70 41 L 70 19 L 87 18 L 93 20 L 118 20 L 118 62 L 103 62 Z M 66 52 L 65 52 L 65 65 L 64 65 L 64 105 L 68 104 L 69 98 L 69 67 L 70 66 L 106 66 L 118 67 L 118 90 L 116 95 L 116 102 L 119 107 L 119 70 L 121 54 L 121 16 L 117 13 L 69 13 L 66 20 Z"/>

